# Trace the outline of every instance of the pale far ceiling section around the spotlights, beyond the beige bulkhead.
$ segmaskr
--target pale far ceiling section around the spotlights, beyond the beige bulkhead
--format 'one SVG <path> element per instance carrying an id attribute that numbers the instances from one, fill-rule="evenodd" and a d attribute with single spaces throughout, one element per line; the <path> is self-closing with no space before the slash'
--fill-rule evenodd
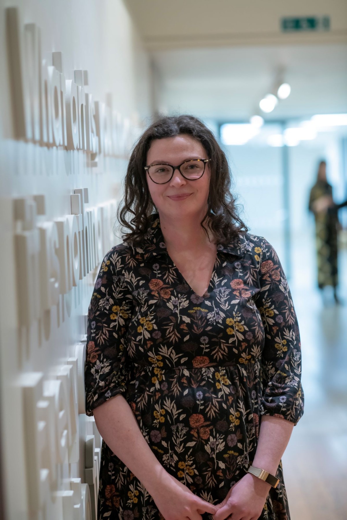
<path id="1" fill-rule="evenodd" d="M 160 112 L 248 120 L 283 67 L 291 94 L 265 120 L 347 112 L 347 44 L 263 45 L 152 53 Z"/>

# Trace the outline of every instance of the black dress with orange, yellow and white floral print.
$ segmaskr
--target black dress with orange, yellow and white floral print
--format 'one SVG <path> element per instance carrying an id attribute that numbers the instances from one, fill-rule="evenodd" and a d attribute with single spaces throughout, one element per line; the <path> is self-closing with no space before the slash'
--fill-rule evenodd
<path id="1" fill-rule="evenodd" d="M 246 475 L 262 415 L 303 414 L 301 347 L 276 252 L 242 233 L 217 245 L 196 294 L 166 251 L 158 213 L 141 247 L 105 256 L 88 309 L 86 414 L 122 394 L 166 471 L 213 504 Z M 149 468 L 150 470 L 150 468 Z M 279 463 L 261 520 L 289 520 Z M 211 518 L 209 514 L 203 518 Z M 102 443 L 98 520 L 159 520 L 135 475 Z"/>

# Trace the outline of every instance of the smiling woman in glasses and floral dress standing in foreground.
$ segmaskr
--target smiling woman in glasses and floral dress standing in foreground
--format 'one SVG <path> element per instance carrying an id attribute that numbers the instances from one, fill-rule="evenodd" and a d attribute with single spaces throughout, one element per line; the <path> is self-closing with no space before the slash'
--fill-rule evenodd
<path id="1" fill-rule="evenodd" d="M 229 187 L 192 116 L 156 121 L 131 155 L 128 232 L 88 310 L 98 519 L 290 518 L 280 459 L 303 413 L 298 323 L 275 251 L 247 233 Z"/>

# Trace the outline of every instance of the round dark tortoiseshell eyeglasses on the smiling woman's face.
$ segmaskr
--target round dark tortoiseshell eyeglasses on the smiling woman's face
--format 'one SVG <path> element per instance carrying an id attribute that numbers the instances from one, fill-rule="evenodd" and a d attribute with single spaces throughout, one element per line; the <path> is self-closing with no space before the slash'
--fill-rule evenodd
<path id="1" fill-rule="evenodd" d="M 187 180 L 197 180 L 202 177 L 206 163 L 209 162 L 209 160 L 210 159 L 191 159 L 184 161 L 178 166 L 166 163 L 150 164 L 149 166 L 145 166 L 145 170 L 148 172 L 153 183 L 156 184 L 168 183 L 172 179 L 175 170 L 179 170 L 181 175 Z"/>

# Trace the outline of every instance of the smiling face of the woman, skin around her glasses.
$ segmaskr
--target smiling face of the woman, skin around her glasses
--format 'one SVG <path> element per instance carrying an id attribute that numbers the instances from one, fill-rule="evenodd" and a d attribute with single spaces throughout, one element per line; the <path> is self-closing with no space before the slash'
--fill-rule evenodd
<path id="1" fill-rule="evenodd" d="M 147 166 L 153 163 L 168 163 L 178 166 L 189 159 L 209 159 L 201 142 L 193 137 L 180 134 L 176 137 L 155 139 L 147 153 Z M 185 179 L 181 172 L 174 171 L 172 179 L 165 184 L 153 183 L 148 173 L 147 184 L 153 203 L 159 214 L 168 217 L 202 216 L 207 211 L 210 186 L 208 163 L 199 179 Z"/>

